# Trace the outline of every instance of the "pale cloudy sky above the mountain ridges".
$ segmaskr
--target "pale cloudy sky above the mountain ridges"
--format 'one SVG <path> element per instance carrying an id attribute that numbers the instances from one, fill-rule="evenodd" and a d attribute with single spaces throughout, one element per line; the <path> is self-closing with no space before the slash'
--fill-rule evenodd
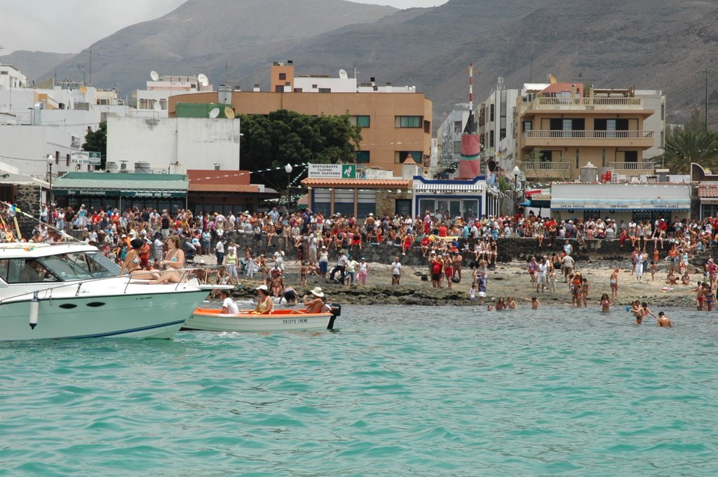
<path id="1" fill-rule="evenodd" d="M 162 17 L 186 0 L 0 0 L 0 56 L 15 50 L 78 53 L 131 24 Z M 398 9 L 448 0 L 354 0 Z"/>

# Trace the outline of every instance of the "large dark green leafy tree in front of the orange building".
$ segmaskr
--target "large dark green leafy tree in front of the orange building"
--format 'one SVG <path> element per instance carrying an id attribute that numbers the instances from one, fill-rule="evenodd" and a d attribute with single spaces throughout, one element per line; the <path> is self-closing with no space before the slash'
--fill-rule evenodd
<path id="1" fill-rule="evenodd" d="M 276 190 L 288 186 L 285 165 L 354 162 L 362 139 L 361 126 L 352 125 L 348 114 L 310 116 L 281 109 L 239 119 L 241 167 L 254 172 L 253 182 L 264 182 Z M 305 171 L 294 167 L 292 185 L 306 177 Z"/>

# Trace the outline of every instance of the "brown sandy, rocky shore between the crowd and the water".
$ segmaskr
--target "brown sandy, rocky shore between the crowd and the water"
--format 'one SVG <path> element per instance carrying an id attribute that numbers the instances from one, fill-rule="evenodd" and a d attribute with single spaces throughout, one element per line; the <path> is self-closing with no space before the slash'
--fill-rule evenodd
<path id="1" fill-rule="evenodd" d="M 202 256 L 208 264 L 215 262 L 214 256 Z M 330 270 L 333 262 L 330 261 Z M 638 282 L 635 275 L 631 274 L 630 260 L 608 261 L 589 260 L 579 261 L 577 271 L 589 282 L 589 307 L 597 307 L 603 293 L 610 296 L 609 280 L 613 267 L 620 267 L 618 279 L 618 297 L 615 306 L 628 305 L 633 300 L 648 302 L 649 306 L 666 307 L 693 307 L 695 294 L 691 292 L 696 286 L 697 280 L 703 279 L 702 272 L 696 273 L 695 267 L 689 266 L 691 283 L 689 285 L 666 284 L 667 269 L 661 266 L 656 273 L 655 280 L 651 280 L 651 274 L 643 276 L 643 282 Z M 535 286 L 531 284 L 531 278 L 527 271 L 528 265 L 523 262 L 513 261 L 499 263 L 495 268 L 488 269 L 488 286 L 485 302 L 498 300 L 498 297 L 513 297 L 519 307 L 530 307 L 530 303 L 521 298 L 538 297 L 541 305 L 571 305 L 571 293 L 569 286 L 564 282 L 562 274 L 557 273 L 556 291 L 536 292 Z M 453 283 L 452 290 L 446 289 L 446 282 L 442 289 L 432 288 L 432 283 L 421 279 L 423 274 L 428 272 L 427 267 L 405 266 L 402 269 L 401 285 L 396 287 L 391 284 L 391 267 L 389 264 L 370 263 L 368 269 L 367 284 L 361 285 L 355 282 L 353 287 L 342 286 L 332 283 L 321 277 L 311 277 L 309 286 L 299 285 L 299 264 L 294 260 L 285 261 L 284 275 L 285 285 L 299 290 L 301 296 L 313 287 L 322 287 L 327 292 L 330 301 L 343 303 L 358 303 L 364 305 L 383 304 L 406 304 L 406 305 L 467 305 L 476 306 L 478 300 L 469 300 L 469 289 L 471 286 L 471 269 L 462 270 L 463 277 L 460 283 Z M 241 287 L 235 291 L 236 297 L 253 298 L 256 295 L 254 288 L 261 284 L 261 279 L 255 276 L 253 279 L 240 277 Z"/>

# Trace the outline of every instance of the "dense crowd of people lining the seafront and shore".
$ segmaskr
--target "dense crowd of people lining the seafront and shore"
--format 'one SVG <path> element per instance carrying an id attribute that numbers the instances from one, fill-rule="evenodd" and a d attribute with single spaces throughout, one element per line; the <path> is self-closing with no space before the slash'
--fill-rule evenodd
<path id="1" fill-rule="evenodd" d="M 17 212 L 6 205 L 4 217 L 8 219 Z M 452 284 L 462 282 L 462 273 L 470 269 L 470 297 L 480 302 L 486 296 L 487 270 L 495 267 L 498 260 L 500 238 L 522 237 L 535 239 L 538 249 L 555 247 L 562 243 L 561 253 L 541 254 L 528 261 L 531 288 L 536 292 L 556 291 L 556 281 L 563 277 L 572 297 L 572 305 L 586 306 L 589 283 L 575 267 L 573 246 L 585 246 L 586 240 L 617 240 L 619 246 L 630 247 L 631 275 L 637 282 L 651 274 L 654 280 L 661 269 L 667 270 L 666 284 L 691 284 L 689 261 L 692 256 L 717 244 L 718 218 L 674 218 L 666 221 L 658 216 L 653 221 L 613 221 L 610 218 L 577 218 L 559 221 L 551 217 L 497 215 L 481 218 L 452 217 L 449 213 L 426 210 L 420 216 L 374 216 L 364 218 L 353 214 L 325 216 L 320 211 L 298 210 L 290 212 L 274 207 L 267 212 L 210 213 L 190 210 L 154 210 L 151 208 L 85 208 L 78 210 L 48 208 L 39 210 L 39 223 L 29 241 L 63 241 L 66 232 L 76 230 L 80 238 L 106 250 L 111 259 L 123 267 L 123 271 L 142 274 L 159 282 L 172 281 L 163 260 L 172 245 L 167 239 L 177 236 L 178 250 L 194 256 L 213 255 L 217 264 L 223 266 L 218 273 L 225 282 L 238 284 L 241 276 L 266 282 L 271 295 L 281 295 L 284 288 L 284 260 L 289 251 L 296 256 L 299 266 L 299 284 L 309 286 L 310 281 L 325 279 L 352 286 L 366 284 L 369 264 L 363 257 L 369 245 L 388 244 L 397 247 L 391 263 L 391 282 L 401 284 L 402 256 L 421 255 L 428 270 L 426 280 L 432 287 L 452 289 Z M 251 246 L 239 250 L 230 234 L 251 237 L 254 244 L 274 250 L 274 253 L 254 254 Z M 648 254 L 648 243 L 652 252 Z M 172 243 L 175 241 L 172 239 Z M 246 241 L 245 241 L 246 243 Z M 574 245 L 572 245 L 574 244 Z M 138 248 L 139 247 L 139 248 Z M 628 251 L 627 251 L 628 254 Z M 129 257 L 129 261 L 128 261 Z M 333 267 L 330 269 L 330 262 Z M 200 262 L 201 263 L 201 262 Z M 665 266 L 664 266 L 665 264 Z M 171 274 L 169 274 L 171 275 Z M 710 297 L 717 286 L 718 267 L 706 264 L 704 283 L 708 284 L 704 307 L 712 307 Z M 703 286 L 697 295 L 706 295 Z M 618 270 L 610 279 L 609 301 L 618 297 Z M 528 300 L 528 299 L 527 299 Z M 536 300 L 538 302 L 538 300 Z M 498 305 L 500 308 L 501 305 Z"/>

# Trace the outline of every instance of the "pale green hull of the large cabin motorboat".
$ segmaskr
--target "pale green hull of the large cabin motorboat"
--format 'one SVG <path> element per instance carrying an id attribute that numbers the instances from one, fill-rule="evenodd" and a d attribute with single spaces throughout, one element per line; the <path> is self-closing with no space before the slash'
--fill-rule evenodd
<path id="1" fill-rule="evenodd" d="M 0 305 L 0 341 L 170 339 L 207 295 L 206 290 L 193 289 L 174 293 L 41 297 L 34 328 L 29 326 L 29 301 L 4 302 Z"/>

